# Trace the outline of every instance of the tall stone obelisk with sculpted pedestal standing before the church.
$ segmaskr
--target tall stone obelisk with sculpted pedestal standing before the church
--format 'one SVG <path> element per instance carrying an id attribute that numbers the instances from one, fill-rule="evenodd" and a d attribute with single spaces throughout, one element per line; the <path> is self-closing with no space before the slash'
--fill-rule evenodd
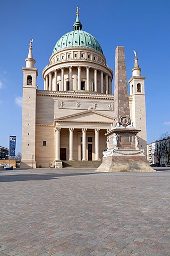
<path id="1" fill-rule="evenodd" d="M 138 133 L 130 119 L 125 53 L 117 46 L 115 55 L 114 127 L 107 136 L 107 151 L 97 171 L 103 172 L 152 172 L 146 162 L 144 150 L 138 148 Z"/>

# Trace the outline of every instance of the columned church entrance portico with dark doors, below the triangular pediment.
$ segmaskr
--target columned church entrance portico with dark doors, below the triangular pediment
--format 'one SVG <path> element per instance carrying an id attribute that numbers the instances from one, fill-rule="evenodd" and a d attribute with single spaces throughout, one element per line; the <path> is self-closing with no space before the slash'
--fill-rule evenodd
<path id="1" fill-rule="evenodd" d="M 106 150 L 106 142 L 101 145 L 101 136 L 107 130 L 100 129 L 55 129 L 56 156 L 55 161 L 99 161 L 103 150 Z M 100 134 L 101 133 L 101 134 Z M 64 141 L 63 141 L 64 137 Z"/>

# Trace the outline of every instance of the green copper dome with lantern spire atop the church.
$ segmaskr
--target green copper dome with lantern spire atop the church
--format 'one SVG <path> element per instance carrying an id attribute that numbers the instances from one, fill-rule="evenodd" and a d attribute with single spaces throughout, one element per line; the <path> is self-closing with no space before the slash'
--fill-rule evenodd
<path id="1" fill-rule="evenodd" d="M 79 20 L 79 12 L 77 11 L 77 19 L 74 22 L 74 30 L 66 33 L 60 39 L 58 39 L 57 43 L 54 46 L 53 53 L 67 48 L 67 47 L 88 47 L 93 50 L 97 50 L 103 54 L 100 44 L 96 40 L 96 38 L 90 35 L 88 32 L 81 30 L 82 24 Z"/>

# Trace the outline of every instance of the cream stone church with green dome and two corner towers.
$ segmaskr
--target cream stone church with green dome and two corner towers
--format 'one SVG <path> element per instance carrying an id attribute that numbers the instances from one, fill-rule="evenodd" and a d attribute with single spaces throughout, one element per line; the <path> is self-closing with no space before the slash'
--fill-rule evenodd
<path id="1" fill-rule="evenodd" d="M 113 70 L 97 39 L 82 30 L 77 8 L 74 30 L 56 42 L 43 69 L 44 90 L 38 90 L 38 69 L 30 41 L 23 67 L 21 167 L 62 167 L 64 163 L 99 165 L 113 125 Z M 134 52 L 135 53 L 135 52 Z M 145 77 L 135 53 L 129 80 L 133 126 L 141 130 L 139 148 L 146 151 Z M 86 162 L 82 162 L 86 161 Z"/>

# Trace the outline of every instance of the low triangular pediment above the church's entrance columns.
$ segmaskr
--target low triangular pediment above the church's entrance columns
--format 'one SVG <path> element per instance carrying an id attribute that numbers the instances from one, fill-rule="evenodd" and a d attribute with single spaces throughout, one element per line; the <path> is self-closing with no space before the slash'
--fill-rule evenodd
<path id="1" fill-rule="evenodd" d="M 56 118 L 57 122 L 92 122 L 92 123 L 112 123 L 113 118 L 111 116 L 106 116 L 104 114 L 100 114 L 96 111 L 83 111 L 78 114 L 73 114 L 69 116 L 63 116 L 60 118 Z"/>

